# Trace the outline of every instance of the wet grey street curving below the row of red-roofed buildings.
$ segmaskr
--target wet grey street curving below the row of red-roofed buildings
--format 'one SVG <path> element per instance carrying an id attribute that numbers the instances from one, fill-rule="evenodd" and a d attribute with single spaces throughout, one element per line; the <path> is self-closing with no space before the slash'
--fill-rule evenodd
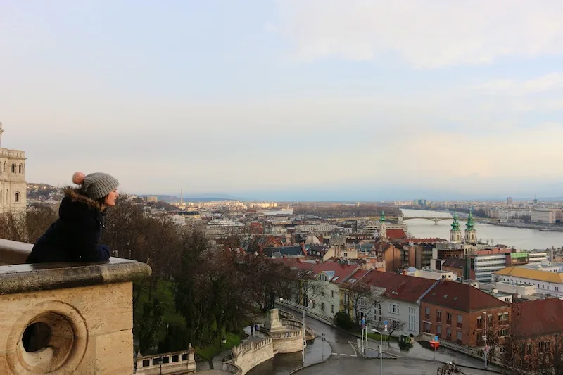
<path id="1" fill-rule="evenodd" d="M 301 312 L 297 310 L 286 306 L 283 307 L 283 310 L 291 312 L 296 318 L 301 317 Z M 357 357 L 355 344 L 358 338 L 310 317 L 305 318 L 305 323 L 317 335 L 315 342 L 308 345 L 305 350 L 305 365 L 320 362 L 322 357 L 327 357 L 328 351 L 331 352 L 331 357 L 325 364 L 303 369 L 299 371 L 299 374 L 361 374 L 364 372 L 365 374 L 379 374 L 379 360 L 365 360 Z M 322 333 L 326 338 L 324 345 L 321 345 Z M 377 350 L 377 343 L 370 341 L 369 348 Z M 482 360 L 446 348 L 440 348 L 435 353 L 426 342 L 416 342 L 410 350 L 400 350 L 396 342 L 391 342 L 390 345 L 384 342 L 384 352 L 398 357 L 397 360 L 384 360 L 384 373 L 388 374 L 436 374 L 436 369 L 440 364 L 448 361 L 462 366 L 483 368 Z M 434 362 L 435 356 L 436 362 Z M 276 355 L 273 360 L 249 371 L 248 375 L 286 375 L 299 367 L 301 367 L 301 352 Z M 386 368 L 389 371 L 386 371 Z M 495 366 L 490 366 L 489 369 L 500 372 L 500 369 Z M 464 369 L 464 372 L 467 375 L 491 374 L 491 372 L 476 369 Z"/>

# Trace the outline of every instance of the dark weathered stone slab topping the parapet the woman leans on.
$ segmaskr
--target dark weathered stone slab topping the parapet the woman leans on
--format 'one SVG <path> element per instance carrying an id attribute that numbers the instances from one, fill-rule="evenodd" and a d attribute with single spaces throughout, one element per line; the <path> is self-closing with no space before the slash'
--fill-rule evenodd
<path id="1" fill-rule="evenodd" d="M 151 275 L 151 267 L 110 258 L 103 263 L 40 263 L 0 266 L 0 295 L 113 284 Z"/>

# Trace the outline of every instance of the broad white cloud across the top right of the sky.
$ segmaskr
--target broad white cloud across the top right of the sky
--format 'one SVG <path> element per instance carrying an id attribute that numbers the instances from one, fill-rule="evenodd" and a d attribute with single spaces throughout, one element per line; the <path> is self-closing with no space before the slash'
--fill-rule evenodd
<path id="1" fill-rule="evenodd" d="M 398 55 L 417 68 L 563 52 L 557 0 L 279 0 L 279 30 L 296 58 L 368 61 Z"/>

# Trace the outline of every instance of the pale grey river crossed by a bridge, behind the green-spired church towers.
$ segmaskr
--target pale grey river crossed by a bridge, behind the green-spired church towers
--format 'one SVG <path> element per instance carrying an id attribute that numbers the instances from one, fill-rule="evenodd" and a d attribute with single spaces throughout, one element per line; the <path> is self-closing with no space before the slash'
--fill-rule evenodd
<path id="1" fill-rule="evenodd" d="M 405 217 L 451 217 L 446 212 L 428 210 L 407 210 L 402 208 Z M 409 233 L 419 238 L 438 237 L 441 239 L 450 238 L 450 225 L 452 220 L 442 220 L 435 225 L 434 222 L 425 219 L 412 219 L 405 221 L 409 227 Z M 465 229 L 465 222 L 460 220 L 462 231 Z M 477 238 L 483 242 L 502 243 L 518 249 L 546 249 L 551 246 L 560 248 L 563 246 L 563 232 L 558 231 L 538 231 L 536 229 L 521 229 L 500 227 L 491 224 L 475 224 Z"/>

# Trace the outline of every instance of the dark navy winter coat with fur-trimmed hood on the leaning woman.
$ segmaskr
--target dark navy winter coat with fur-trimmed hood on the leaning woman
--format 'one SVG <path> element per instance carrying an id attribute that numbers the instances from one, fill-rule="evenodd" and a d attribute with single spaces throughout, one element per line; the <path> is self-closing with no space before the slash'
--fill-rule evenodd
<path id="1" fill-rule="evenodd" d="M 104 228 L 101 205 L 80 189 L 66 188 L 58 209 L 58 220 L 33 246 L 27 263 L 101 262 L 110 258 L 101 245 Z"/>

